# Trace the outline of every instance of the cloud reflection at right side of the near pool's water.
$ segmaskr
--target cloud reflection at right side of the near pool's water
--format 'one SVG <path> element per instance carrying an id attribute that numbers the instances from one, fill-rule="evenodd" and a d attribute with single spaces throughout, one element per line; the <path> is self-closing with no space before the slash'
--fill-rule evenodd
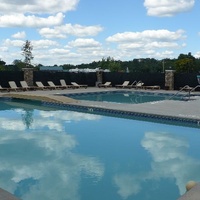
<path id="1" fill-rule="evenodd" d="M 163 178 L 175 179 L 182 195 L 185 192 L 185 184 L 200 177 L 200 161 L 188 155 L 189 142 L 183 137 L 163 132 L 146 132 L 141 145 L 150 153 L 151 170 L 137 174 L 123 172 L 114 176 L 118 194 L 123 199 L 144 193 L 142 185 L 146 181 Z"/>

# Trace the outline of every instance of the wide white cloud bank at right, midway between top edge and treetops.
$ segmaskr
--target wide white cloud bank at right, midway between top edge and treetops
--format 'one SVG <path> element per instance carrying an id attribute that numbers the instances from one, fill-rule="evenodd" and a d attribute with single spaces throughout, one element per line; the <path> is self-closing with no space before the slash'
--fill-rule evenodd
<path id="1" fill-rule="evenodd" d="M 175 32 L 169 30 L 145 30 L 142 32 L 124 32 L 117 33 L 106 39 L 109 43 L 118 44 L 118 49 L 122 53 L 122 57 L 133 56 L 155 57 L 160 53 L 160 57 L 170 49 L 178 49 L 182 47 L 182 40 L 185 39 L 183 30 Z M 164 49 L 164 51 L 163 51 Z M 162 53 L 161 53 L 161 52 Z"/>

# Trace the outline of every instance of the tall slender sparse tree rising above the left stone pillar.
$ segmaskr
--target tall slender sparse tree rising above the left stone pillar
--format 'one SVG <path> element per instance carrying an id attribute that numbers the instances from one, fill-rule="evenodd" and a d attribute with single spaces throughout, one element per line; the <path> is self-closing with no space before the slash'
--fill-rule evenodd
<path id="1" fill-rule="evenodd" d="M 22 46 L 22 55 L 24 56 L 24 63 L 26 64 L 26 67 L 31 67 L 31 60 L 33 60 L 33 54 L 32 54 L 33 46 L 29 40 L 26 40 L 26 42 Z"/>

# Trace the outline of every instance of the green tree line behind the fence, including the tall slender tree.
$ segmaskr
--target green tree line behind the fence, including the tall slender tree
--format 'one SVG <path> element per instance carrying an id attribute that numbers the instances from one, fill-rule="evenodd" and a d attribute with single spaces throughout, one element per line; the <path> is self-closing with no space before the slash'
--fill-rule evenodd
<path id="1" fill-rule="evenodd" d="M 34 58 L 32 55 L 33 46 L 30 41 L 26 40 L 22 46 L 22 55 L 24 60 L 14 60 L 11 65 L 6 65 L 6 62 L 0 59 L 0 71 L 21 71 L 23 68 L 34 67 L 39 69 L 43 66 L 38 64 L 36 66 L 31 64 L 31 60 Z M 58 66 L 58 65 L 53 65 Z M 177 72 L 197 72 L 200 73 L 200 58 L 195 58 L 189 52 L 188 54 L 180 54 L 178 58 L 170 59 L 165 58 L 157 60 L 154 58 L 137 58 L 130 61 L 115 60 L 112 57 L 102 58 L 100 61 L 93 61 L 87 64 L 64 64 L 59 65 L 64 70 L 70 70 L 74 68 L 89 68 L 89 69 L 108 69 L 111 72 L 164 72 L 165 70 L 176 70 Z"/>

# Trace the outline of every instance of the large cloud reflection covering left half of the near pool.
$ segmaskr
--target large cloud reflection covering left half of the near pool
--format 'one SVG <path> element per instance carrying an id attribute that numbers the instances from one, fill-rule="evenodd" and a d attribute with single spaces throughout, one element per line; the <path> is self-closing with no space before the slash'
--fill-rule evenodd
<path id="1" fill-rule="evenodd" d="M 76 138 L 66 133 L 63 123 L 77 119 L 98 120 L 100 117 L 40 111 L 34 113 L 37 116 L 30 126 L 31 132 L 27 132 L 18 115 L 23 112 L 18 109 L 9 118 L 0 117 L 1 187 L 20 194 L 23 200 L 81 199 L 82 173 L 99 181 L 104 174 L 104 165 L 95 157 L 73 152 L 78 145 Z"/>

